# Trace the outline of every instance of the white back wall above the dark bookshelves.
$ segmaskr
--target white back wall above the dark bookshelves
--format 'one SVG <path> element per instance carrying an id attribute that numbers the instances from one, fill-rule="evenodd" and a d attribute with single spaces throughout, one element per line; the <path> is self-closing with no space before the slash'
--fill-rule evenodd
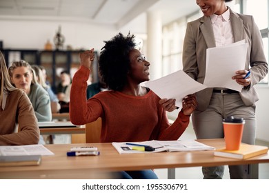
<path id="1" fill-rule="evenodd" d="M 42 50 L 48 39 L 53 38 L 61 26 L 61 34 L 65 37 L 64 46 L 72 45 L 73 49 L 100 50 L 103 41 L 119 32 L 113 26 L 88 25 L 83 22 L 61 23 L 54 21 L 3 21 L 0 20 L 0 40 L 3 48 L 39 49 Z M 52 43 L 54 45 L 54 43 Z"/>

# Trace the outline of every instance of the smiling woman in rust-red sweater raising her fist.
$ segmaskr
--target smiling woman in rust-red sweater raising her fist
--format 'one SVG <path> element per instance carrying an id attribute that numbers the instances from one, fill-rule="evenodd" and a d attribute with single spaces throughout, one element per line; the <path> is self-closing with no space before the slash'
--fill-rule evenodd
<path id="1" fill-rule="evenodd" d="M 86 100 L 93 49 L 79 55 L 81 67 L 74 74 L 70 94 L 70 121 L 83 125 L 102 119 L 101 142 L 177 140 L 195 110 L 195 95 L 183 99 L 183 108 L 170 125 L 160 98 L 140 83 L 149 80 L 150 63 L 135 48 L 135 36 L 119 33 L 101 50 L 99 70 L 110 90 Z M 117 49 L 116 49 L 117 48 Z M 123 179 L 157 179 L 152 170 L 124 171 Z"/>

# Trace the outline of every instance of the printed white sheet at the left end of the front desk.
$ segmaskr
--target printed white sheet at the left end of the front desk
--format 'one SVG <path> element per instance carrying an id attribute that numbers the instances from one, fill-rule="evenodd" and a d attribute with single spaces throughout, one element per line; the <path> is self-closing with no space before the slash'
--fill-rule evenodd
<path id="1" fill-rule="evenodd" d="M 24 155 L 54 155 L 41 144 L 37 145 L 0 145 L 0 156 L 24 156 Z"/>

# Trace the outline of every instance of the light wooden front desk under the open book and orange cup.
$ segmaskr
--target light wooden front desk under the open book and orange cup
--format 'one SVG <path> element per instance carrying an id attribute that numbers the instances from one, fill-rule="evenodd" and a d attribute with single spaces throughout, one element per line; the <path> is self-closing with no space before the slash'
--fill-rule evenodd
<path id="1" fill-rule="evenodd" d="M 222 148 L 225 145 L 223 139 L 199 141 L 215 148 Z M 99 148 L 101 152 L 99 156 L 66 156 L 71 147 L 91 145 Z M 269 154 L 237 160 L 214 156 L 213 151 L 119 154 L 111 143 L 57 144 L 46 147 L 55 155 L 43 156 L 39 166 L 1 167 L 0 179 L 101 179 L 98 174 L 110 174 L 109 172 L 121 170 L 269 162 Z"/>

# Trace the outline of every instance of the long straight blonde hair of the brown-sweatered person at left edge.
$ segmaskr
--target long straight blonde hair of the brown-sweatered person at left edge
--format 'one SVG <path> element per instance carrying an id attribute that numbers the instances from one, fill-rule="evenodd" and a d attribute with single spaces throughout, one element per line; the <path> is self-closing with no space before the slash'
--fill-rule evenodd
<path id="1" fill-rule="evenodd" d="M 10 82 L 10 77 L 8 75 L 8 68 L 6 67 L 6 61 L 0 51 L 0 104 L 3 100 L 3 93 L 17 90 Z"/>

